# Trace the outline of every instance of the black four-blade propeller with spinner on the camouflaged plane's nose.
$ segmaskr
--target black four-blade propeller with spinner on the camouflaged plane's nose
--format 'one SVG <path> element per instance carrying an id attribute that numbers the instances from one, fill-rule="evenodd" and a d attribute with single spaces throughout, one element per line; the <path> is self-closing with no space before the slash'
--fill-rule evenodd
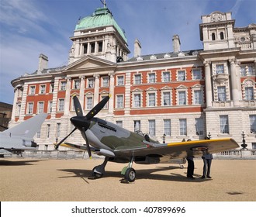
<path id="1" fill-rule="evenodd" d="M 97 105 L 95 105 L 95 107 L 92 108 L 92 110 L 87 113 L 87 115 L 83 116 L 83 110 L 81 108 L 81 104 L 80 104 L 77 96 L 74 95 L 73 102 L 74 102 L 74 108 L 75 108 L 75 112 L 76 112 L 77 116 L 72 117 L 71 122 L 73 123 L 75 128 L 71 131 L 71 133 L 69 133 L 66 137 L 64 137 L 64 139 L 61 140 L 60 143 L 57 143 L 57 145 L 55 146 L 55 150 L 58 149 L 58 147 L 61 145 L 61 143 L 63 143 L 65 140 L 67 140 L 68 136 L 71 136 L 71 134 L 74 133 L 74 131 L 76 129 L 79 129 L 81 131 L 81 134 L 85 138 L 88 155 L 91 158 L 92 152 L 91 152 L 91 149 L 90 149 L 90 146 L 88 143 L 88 138 L 86 136 L 85 131 L 90 127 L 91 119 L 95 115 L 97 115 L 99 113 L 99 111 L 102 110 L 102 108 L 104 108 L 106 103 L 109 101 L 109 98 L 110 98 L 110 95 L 108 95 L 106 98 L 103 98 L 101 102 L 99 102 Z"/>

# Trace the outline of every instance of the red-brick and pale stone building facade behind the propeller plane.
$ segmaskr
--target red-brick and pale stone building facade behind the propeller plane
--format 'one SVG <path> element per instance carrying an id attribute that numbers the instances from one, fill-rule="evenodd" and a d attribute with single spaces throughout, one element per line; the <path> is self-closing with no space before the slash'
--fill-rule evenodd
<path id="1" fill-rule="evenodd" d="M 53 150 L 56 140 L 73 129 L 73 95 L 86 114 L 110 94 L 97 116 L 130 131 L 150 133 L 161 142 L 164 134 L 166 142 L 202 140 L 210 134 L 237 143 L 244 131 L 247 147 L 256 148 L 256 25 L 235 28 L 234 22 L 230 12 L 202 15 L 203 50 L 181 51 L 175 35 L 170 53 L 141 56 L 142 46 L 135 40 L 130 59 L 117 27 L 76 29 L 67 66 L 42 70 L 41 65 L 12 81 L 11 124 L 47 112 L 35 140 L 39 150 Z M 45 67 L 47 57 L 40 58 Z M 85 143 L 79 132 L 67 142 Z"/>

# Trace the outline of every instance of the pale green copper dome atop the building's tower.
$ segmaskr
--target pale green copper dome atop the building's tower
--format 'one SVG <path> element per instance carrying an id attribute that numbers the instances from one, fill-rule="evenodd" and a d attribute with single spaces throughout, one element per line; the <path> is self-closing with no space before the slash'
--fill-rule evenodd
<path id="1" fill-rule="evenodd" d="M 123 30 L 118 26 L 108 8 L 96 9 L 92 15 L 80 19 L 78 24 L 75 26 L 75 30 L 93 29 L 102 26 L 115 26 L 118 33 L 127 43 Z"/>

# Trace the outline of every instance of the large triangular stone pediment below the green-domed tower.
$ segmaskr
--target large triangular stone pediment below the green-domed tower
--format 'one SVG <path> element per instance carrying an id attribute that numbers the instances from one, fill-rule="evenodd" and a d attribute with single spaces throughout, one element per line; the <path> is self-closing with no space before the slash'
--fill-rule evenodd
<path id="1" fill-rule="evenodd" d="M 69 64 L 64 71 L 81 71 L 81 70 L 92 70 L 104 67 L 116 67 L 116 63 L 112 63 L 108 60 L 103 60 L 99 57 L 86 56 Z"/>

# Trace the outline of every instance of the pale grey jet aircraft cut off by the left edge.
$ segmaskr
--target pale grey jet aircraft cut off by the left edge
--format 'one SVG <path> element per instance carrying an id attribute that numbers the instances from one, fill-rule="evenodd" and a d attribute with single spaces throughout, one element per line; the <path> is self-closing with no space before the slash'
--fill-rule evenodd
<path id="1" fill-rule="evenodd" d="M 21 154 L 24 150 L 35 150 L 36 143 L 33 136 L 40 130 L 40 127 L 47 114 L 36 115 L 25 122 L 0 133 L 0 157 L 5 154 Z"/>

